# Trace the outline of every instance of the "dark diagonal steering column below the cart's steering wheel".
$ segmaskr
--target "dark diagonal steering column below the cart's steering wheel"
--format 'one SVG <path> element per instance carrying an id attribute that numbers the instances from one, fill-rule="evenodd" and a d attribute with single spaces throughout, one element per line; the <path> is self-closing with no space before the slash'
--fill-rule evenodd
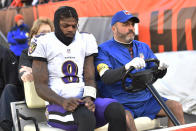
<path id="1" fill-rule="evenodd" d="M 176 117 L 170 111 L 170 109 L 165 105 L 165 102 L 163 101 L 163 99 L 161 98 L 161 96 L 159 95 L 159 93 L 157 92 L 157 90 L 152 85 L 146 84 L 146 86 L 150 90 L 150 92 L 152 93 L 152 95 L 155 97 L 155 99 L 158 101 L 158 103 L 161 105 L 161 107 L 163 108 L 163 110 L 165 111 L 165 113 L 167 114 L 167 116 L 169 117 L 169 119 L 172 121 L 172 123 L 175 126 L 179 126 L 180 125 L 180 122 L 176 119 Z"/>

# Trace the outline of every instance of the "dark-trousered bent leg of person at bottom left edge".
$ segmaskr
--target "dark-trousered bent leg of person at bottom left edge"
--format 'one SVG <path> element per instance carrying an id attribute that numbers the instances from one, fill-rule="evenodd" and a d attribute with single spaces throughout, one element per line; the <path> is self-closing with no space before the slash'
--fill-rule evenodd
<path id="1" fill-rule="evenodd" d="M 21 89 L 20 89 L 21 88 Z M 22 87 L 7 84 L 0 98 L 0 127 L 11 131 L 13 127 L 10 103 L 24 99 Z"/>

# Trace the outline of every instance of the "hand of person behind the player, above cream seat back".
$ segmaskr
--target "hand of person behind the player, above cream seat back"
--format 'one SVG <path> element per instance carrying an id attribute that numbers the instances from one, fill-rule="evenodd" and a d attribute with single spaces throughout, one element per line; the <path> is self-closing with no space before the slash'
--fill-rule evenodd
<path id="1" fill-rule="evenodd" d="M 33 74 L 32 74 L 32 68 L 27 67 L 27 66 L 22 66 L 19 70 L 19 72 L 24 72 L 21 76 L 21 79 L 23 82 L 31 82 L 33 81 Z"/>

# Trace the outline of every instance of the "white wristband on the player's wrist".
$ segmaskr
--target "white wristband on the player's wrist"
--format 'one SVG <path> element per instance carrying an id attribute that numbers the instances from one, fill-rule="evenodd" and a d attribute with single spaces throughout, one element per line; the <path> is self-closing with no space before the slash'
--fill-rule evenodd
<path id="1" fill-rule="evenodd" d="M 84 93 L 83 93 L 83 97 L 87 97 L 90 96 L 94 99 L 96 99 L 96 88 L 92 87 L 92 86 L 84 86 Z"/>

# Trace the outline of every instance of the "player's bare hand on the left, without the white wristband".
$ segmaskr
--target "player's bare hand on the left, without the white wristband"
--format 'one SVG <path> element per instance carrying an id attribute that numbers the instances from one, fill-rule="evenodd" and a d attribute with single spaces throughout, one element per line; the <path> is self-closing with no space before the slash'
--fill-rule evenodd
<path id="1" fill-rule="evenodd" d="M 67 98 L 64 99 L 63 103 L 62 103 L 62 107 L 66 110 L 66 111 L 71 111 L 73 112 L 80 103 L 82 103 L 83 101 L 79 98 Z"/>

